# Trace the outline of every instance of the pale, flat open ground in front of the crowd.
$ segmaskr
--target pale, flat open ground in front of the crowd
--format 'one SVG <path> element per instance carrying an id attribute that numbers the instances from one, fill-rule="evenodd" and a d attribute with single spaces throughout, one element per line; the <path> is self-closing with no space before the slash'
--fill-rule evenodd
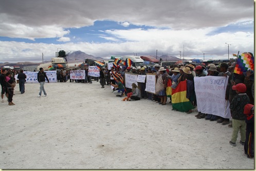
<path id="1" fill-rule="evenodd" d="M 96 81 L 46 83 L 41 98 L 39 84 L 25 87 L 0 103 L 2 169 L 254 169 L 240 135 L 231 146 L 232 128 L 196 110 L 122 102 Z"/>

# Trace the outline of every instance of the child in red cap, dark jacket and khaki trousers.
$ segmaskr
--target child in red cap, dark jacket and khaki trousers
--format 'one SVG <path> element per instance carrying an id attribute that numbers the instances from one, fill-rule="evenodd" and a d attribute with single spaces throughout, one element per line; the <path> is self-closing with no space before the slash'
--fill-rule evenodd
<path id="1" fill-rule="evenodd" d="M 236 96 L 230 103 L 230 110 L 232 113 L 232 138 L 229 143 L 233 146 L 236 146 L 236 139 L 237 134 L 240 130 L 241 132 L 241 140 L 240 143 L 242 145 L 245 144 L 246 138 L 246 123 L 245 123 L 245 115 L 244 115 L 244 107 L 246 104 L 250 103 L 250 99 L 247 96 L 246 92 L 246 85 L 243 83 L 239 83 L 237 85 L 233 85 L 232 89 L 235 90 Z"/>

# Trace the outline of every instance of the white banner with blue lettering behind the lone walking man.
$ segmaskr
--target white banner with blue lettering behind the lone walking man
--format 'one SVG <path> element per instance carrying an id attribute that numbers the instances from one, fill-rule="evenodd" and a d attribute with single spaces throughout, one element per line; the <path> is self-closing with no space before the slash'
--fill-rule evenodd
<path id="1" fill-rule="evenodd" d="M 44 71 L 50 83 L 57 83 L 57 71 Z M 38 72 L 24 71 L 27 75 L 26 83 L 38 83 Z M 47 82 L 47 80 L 45 80 Z"/>

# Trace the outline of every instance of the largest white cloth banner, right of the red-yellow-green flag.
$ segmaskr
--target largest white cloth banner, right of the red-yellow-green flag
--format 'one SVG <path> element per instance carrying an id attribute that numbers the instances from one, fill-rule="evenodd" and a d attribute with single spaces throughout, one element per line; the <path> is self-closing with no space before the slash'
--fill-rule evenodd
<path id="1" fill-rule="evenodd" d="M 195 77 L 194 83 L 198 111 L 231 118 L 229 101 L 225 100 L 228 77 Z"/>

